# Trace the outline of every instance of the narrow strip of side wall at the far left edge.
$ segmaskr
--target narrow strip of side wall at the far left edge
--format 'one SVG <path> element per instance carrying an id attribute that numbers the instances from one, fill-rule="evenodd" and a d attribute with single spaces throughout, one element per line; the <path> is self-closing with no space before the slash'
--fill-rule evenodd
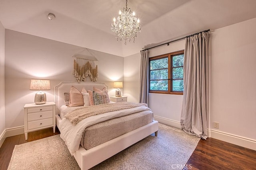
<path id="1" fill-rule="evenodd" d="M 0 136 L 5 129 L 5 99 L 4 99 L 4 26 L 0 22 Z M 1 142 L 0 142 L 1 146 Z"/>

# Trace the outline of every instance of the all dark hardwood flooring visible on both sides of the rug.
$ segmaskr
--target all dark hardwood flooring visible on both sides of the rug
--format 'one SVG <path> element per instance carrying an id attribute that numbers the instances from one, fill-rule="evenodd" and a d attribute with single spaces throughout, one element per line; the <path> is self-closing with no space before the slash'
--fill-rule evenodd
<path id="1" fill-rule="evenodd" d="M 0 170 L 6 170 L 16 144 L 22 144 L 41 138 L 60 134 L 56 127 L 28 133 L 28 140 L 24 134 L 5 139 L 0 148 Z M 183 170 L 255 170 L 256 151 L 223 142 L 214 138 L 200 140 Z"/>

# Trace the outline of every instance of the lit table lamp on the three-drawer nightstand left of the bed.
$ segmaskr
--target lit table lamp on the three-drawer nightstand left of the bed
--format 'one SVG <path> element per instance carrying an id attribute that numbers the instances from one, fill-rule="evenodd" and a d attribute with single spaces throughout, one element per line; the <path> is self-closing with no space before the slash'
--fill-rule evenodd
<path id="1" fill-rule="evenodd" d="M 50 80 L 31 79 L 30 90 L 39 90 L 35 95 L 35 104 L 41 105 L 46 103 L 46 94 L 42 90 L 50 90 Z"/>

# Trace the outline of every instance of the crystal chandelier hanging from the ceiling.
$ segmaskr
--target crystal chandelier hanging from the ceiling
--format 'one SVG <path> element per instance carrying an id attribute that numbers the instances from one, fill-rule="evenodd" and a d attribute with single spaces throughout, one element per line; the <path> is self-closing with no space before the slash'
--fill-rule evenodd
<path id="1" fill-rule="evenodd" d="M 135 42 L 137 34 L 141 31 L 140 20 L 135 17 L 135 12 L 132 12 L 130 8 L 127 9 L 127 0 L 126 8 L 122 11 L 119 10 L 119 16 L 113 21 L 111 31 L 116 33 L 117 41 L 120 38 L 120 42 L 124 40 L 126 45 L 126 40 L 131 42 L 133 38 L 133 42 Z"/>

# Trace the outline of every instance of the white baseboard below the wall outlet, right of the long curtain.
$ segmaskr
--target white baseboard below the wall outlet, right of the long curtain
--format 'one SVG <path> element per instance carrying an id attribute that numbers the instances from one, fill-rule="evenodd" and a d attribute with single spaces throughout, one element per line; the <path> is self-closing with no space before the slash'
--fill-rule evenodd
<path id="1" fill-rule="evenodd" d="M 235 134 L 230 134 L 230 133 L 221 132 L 221 131 L 212 130 L 212 129 L 210 129 L 208 132 L 210 132 L 211 138 L 215 138 L 215 139 L 222 140 L 222 141 L 225 141 L 228 143 L 236 144 L 238 146 L 256 150 L 256 140 L 255 139 L 246 138 L 243 136 L 238 136 Z"/>

